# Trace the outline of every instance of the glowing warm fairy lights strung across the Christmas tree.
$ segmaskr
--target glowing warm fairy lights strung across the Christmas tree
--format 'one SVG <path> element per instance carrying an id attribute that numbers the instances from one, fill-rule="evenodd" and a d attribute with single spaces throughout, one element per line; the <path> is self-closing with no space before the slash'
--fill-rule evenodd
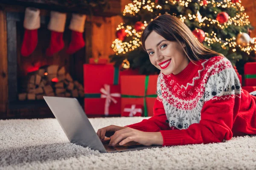
<path id="1" fill-rule="evenodd" d="M 189 3 L 191 3 L 192 1 L 195 1 L 195 0 L 168 0 L 168 1 L 166 0 L 166 3 L 172 3 L 173 5 L 178 3 L 181 6 L 188 7 Z M 200 2 L 200 6 L 204 6 L 204 3 L 201 0 L 198 0 L 198 1 Z M 199 11 L 196 15 L 188 14 L 187 16 L 180 15 L 177 17 L 179 17 L 179 19 L 182 22 L 184 22 L 188 18 L 189 20 L 197 21 L 199 23 L 198 24 L 199 26 L 209 27 L 210 24 L 216 24 L 221 29 L 227 28 L 228 26 L 233 24 L 235 26 L 246 26 L 250 24 L 247 14 L 243 13 L 244 7 L 241 5 L 241 2 L 239 1 L 239 3 L 236 3 L 235 5 L 231 1 L 232 0 L 223 0 L 223 2 L 222 1 L 218 2 L 217 0 L 207 1 L 208 5 L 209 3 L 211 3 L 213 7 L 221 6 L 222 8 L 236 8 L 236 11 L 238 11 L 236 13 L 236 16 L 235 17 L 229 16 L 228 21 L 225 22 L 224 24 L 219 23 L 219 21 L 215 19 L 211 19 L 207 17 L 202 18 Z M 205 4 L 205 6 L 207 6 L 207 4 Z M 125 6 L 125 9 L 123 11 L 123 16 L 125 16 L 126 14 L 132 14 L 135 16 L 140 10 L 148 10 L 150 12 L 153 12 L 154 8 L 162 9 L 162 6 L 155 5 L 155 3 L 151 2 L 151 0 L 142 0 L 142 1 L 134 0 L 133 3 L 129 3 L 128 5 Z M 216 13 L 217 12 L 215 11 L 215 14 Z M 147 25 L 148 23 L 144 21 L 144 26 L 147 26 Z M 118 25 L 116 30 L 119 30 L 119 29 L 125 29 L 125 32 L 127 33 L 127 37 L 129 36 L 132 37 L 132 40 L 129 42 L 122 42 L 122 40 L 119 40 L 118 38 L 114 40 L 112 44 L 112 48 L 113 48 L 113 51 L 116 52 L 116 55 L 121 53 L 125 54 L 128 51 L 133 51 L 134 49 L 142 45 L 142 42 L 140 41 L 142 32 L 137 32 L 135 29 L 132 29 L 132 26 L 124 26 L 124 23 L 120 23 Z M 227 49 L 227 46 L 229 46 L 230 48 L 233 48 L 232 50 L 234 52 L 236 51 L 237 46 L 241 48 L 241 51 L 244 51 L 249 55 L 252 51 L 256 51 L 256 44 L 253 47 L 249 43 L 245 46 L 237 45 L 236 37 L 232 37 L 230 39 L 226 38 L 225 40 L 221 40 L 221 38 L 218 38 L 216 36 L 216 33 L 214 31 L 212 31 L 211 33 L 205 32 L 205 35 L 206 37 L 204 41 L 208 43 L 208 46 L 210 46 L 215 42 L 219 42 L 221 44 L 221 48 Z M 254 42 L 255 39 L 256 38 L 252 38 L 251 42 Z"/>

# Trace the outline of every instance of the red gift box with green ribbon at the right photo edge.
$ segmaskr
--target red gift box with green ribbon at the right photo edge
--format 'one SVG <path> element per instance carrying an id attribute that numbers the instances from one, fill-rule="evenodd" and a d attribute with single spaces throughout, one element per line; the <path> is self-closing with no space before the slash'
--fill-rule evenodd
<path id="1" fill-rule="evenodd" d="M 244 64 L 244 83 L 246 86 L 256 86 L 256 62 Z"/>

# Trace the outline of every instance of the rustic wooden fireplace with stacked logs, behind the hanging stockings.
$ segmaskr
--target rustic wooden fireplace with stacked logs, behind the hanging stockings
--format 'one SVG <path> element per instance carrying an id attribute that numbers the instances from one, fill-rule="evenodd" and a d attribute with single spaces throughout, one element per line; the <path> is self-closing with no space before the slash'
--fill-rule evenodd
<path id="1" fill-rule="evenodd" d="M 83 64 L 90 57 L 108 58 L 113 53 L 111 43 L 115 38 L 116 26 L 120 23 L 120 18 L 115 17 L 121 11 L 120 1 L 112 3 L 112 7 L 105 13 L 87 16 L 84 28 L 86 45 L 73 55 L 66 54 L 65 49 L 71 40 L 68 24 L 72 10 L 76 9 L 47 4 L 42 7 L 37 3 L 16 4 L 10 1 L 0 3 L 0 119 L 54 117 L 42 99 L 43 95 L 76 97 L 83 106 Z M 35 51 L 30 56 L 23 57 L 20 48 L 24 36 L 24 11 L 27 6 L 40 8 L 41 27 L 38 29 Z M 67 13 L 63 34 L 65 46 L 53 57 L 46 57 L 45 50 L 51 36 L 47 29 L 51 10 Z M 79 13 L 87 14 L 86 10 L 79 10 Z M 102 41 L 104 43 L 100 43 Z"/>

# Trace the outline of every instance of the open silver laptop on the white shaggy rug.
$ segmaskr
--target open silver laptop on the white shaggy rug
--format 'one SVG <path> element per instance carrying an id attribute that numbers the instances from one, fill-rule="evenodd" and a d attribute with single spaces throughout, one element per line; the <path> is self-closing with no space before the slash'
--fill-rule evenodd
<path id="1" fill-rule="evenodd" d="M 74 144 L 90 147 L 93 150 L 99 150 L 101 153 L 161 147 L 159 145 L 144 146 L 136 142 L 130 142 L 122 146 L 109 146 L 110 139 L 108 137 L 103 141 L 99 139 L 76 98 L 44 96 L 44 100 L 58 120 L 69 141 Z"/>

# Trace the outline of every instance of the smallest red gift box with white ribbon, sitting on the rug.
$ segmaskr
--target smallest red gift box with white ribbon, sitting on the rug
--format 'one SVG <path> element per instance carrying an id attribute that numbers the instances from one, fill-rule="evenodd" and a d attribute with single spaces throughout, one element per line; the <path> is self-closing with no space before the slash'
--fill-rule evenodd
<path id="1" fill-rule="evenodd" d="M 134 117 L 143 115 L 143 105 L 125 105 L 122 116 Z"/>

